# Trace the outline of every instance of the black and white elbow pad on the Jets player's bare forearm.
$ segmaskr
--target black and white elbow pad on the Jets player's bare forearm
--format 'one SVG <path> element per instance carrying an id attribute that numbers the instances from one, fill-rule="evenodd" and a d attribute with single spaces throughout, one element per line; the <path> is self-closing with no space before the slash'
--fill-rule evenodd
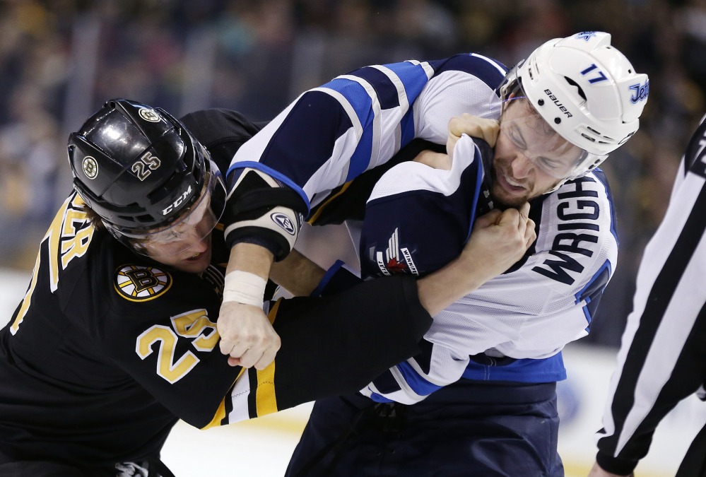
<path id="1" fill-rule="evenodd" d="M 294 247 L 304 220 L 306 204 L 293 189 L 259 170 L 246 168 L 231 189 L 223 213 L 225 242 L 266 247 L 275 260 Z"/>

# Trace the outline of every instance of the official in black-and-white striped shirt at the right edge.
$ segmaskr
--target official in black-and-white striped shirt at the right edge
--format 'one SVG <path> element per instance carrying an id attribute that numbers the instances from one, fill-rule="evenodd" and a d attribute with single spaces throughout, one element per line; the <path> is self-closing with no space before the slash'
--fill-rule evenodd
<path id="1" fill-rule="evenodd" d="M 589 477 L 632 476 L 664 416 L 691 394 L 704 399 L 705 164 L 703 117 L 682 157 L 669 208 L 645 247 L 637 272 L 634 308 L 618 351 Z M 676 476 L 705 473 L 706 428 L 702 428 Z"/>

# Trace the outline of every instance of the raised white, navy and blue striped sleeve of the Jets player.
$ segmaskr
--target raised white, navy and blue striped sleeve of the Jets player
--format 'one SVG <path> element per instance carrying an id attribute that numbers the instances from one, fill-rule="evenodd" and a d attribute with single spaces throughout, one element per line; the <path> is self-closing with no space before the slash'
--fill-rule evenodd
<path id="1" fill-rule="evenodd" d="M 443 144 L 463 112 L 498 117 L 505 66 L 476 54 L 366 66 L 300 95 L 235 154 L 229 175 L 252 167 L 309 206 L 387 162 L 412 139 Z"/>

